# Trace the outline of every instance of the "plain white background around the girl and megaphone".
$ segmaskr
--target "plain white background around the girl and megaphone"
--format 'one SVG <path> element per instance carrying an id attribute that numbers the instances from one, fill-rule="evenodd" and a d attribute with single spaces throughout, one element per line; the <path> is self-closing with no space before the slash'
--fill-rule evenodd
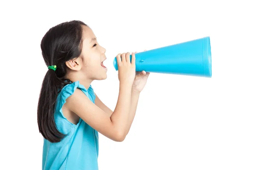
<path id="1" fill-rule="evenodd" d="M 125 141 L 99 136 L 100 170 L 255 170 L 256 6 L 237 2 L 1 1 L 0 169 L 41 169 L 40 42 L 52 26 L 82 20 L 107 49 L 108 79 L 92 85 L 111 109 L 116 54 L 205 36 L 212 46 L 212 78 L 151 73 Z"/>

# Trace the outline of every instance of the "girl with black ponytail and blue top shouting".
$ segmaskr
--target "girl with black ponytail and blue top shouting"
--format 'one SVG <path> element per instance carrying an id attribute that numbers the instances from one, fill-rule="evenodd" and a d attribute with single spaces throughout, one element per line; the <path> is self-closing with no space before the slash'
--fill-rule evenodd
<path id="1" fill-rule="evenodd" d="M 98 170 L 99 136 L 122 142 L 149 73 L 136 74 L 135 54 L 118 54 L 119 96 L 111 111 L 93 91 L 107 78 L 105 48 L 81 21 L 49 29 L 41 41 L 48 66 L 38 101 L 38 127 L 44 136 L 43 170 Z M 136 52 L 135 52 L 136 53 Z"/>

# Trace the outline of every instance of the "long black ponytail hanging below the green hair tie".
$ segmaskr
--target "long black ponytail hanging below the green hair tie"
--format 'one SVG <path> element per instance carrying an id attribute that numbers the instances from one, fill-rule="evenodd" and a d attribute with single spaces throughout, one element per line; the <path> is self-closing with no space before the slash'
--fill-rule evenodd
<path id="1" fill-rule="evenodd" d="M 56 76 L 55 71 L 49 69 L 44 77 L 38 100 L 37 116 L 39 132 L 49 142 L 60 142 L 65 136 L 57 129 L 54 119 L 58 88 L 67 84 L 67 82 L 61 82 Z"/>

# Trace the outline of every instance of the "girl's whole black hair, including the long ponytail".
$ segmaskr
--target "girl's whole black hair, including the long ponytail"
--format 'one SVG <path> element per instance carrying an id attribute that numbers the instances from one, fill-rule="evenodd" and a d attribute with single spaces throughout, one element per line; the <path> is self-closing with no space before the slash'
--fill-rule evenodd
<path id="1" fill-rule="evenodd" d="M 50 28 L 41 40 L 45 64 L 56 65 L 55 71 L 48 69 L 45 74 L 37 110 L 39 132 L 49 142 L 60 142 L 65 136 L 55 124 L 55 104 L 60 89 L 71 83 L 65 78 L 65 62 L 80 56 L 83 26 L 87 25 L 78 20 L 61 23 Z"/>

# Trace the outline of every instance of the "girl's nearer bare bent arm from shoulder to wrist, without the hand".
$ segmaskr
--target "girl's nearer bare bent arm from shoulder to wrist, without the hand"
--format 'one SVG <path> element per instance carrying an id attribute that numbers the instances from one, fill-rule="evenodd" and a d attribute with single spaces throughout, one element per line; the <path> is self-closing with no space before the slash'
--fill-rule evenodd
<path id="1" fill-rule="evenodd" d="M 131 85 L 120 84 L 116 108 L 111 116 L 94 105 L 80 89 L 76 89 L 66 101 L 70 111 L 76 113 L 102 135 L 116 142 L 125 139 L 131 105 Z"/>

